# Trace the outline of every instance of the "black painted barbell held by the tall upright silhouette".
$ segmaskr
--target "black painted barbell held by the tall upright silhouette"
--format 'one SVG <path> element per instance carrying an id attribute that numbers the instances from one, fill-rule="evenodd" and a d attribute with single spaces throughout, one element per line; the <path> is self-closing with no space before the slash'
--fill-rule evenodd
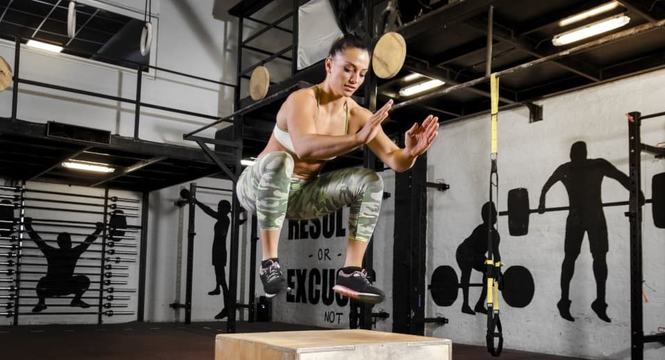
<path id="1" fill-rule="evenodd" d="M 645 203 L 651 204 L 653 222 L 656 227 L 665 229 L 665 172 L 654 175 L 651 181 L 652 199 Z M 609 202 L 602 206 L 625 206 L 629 202 Z M 569 211 L 570 206 L 545 208 L 544 212 Z M 515 188 L 508 191 L 508 210 L 499 215 L 508 215 L 508 232 L 512 236 L 524 236 L 529 233 L 529 215 L 538 213 L 538 209 L 529 208 L 529 190 Z"/>

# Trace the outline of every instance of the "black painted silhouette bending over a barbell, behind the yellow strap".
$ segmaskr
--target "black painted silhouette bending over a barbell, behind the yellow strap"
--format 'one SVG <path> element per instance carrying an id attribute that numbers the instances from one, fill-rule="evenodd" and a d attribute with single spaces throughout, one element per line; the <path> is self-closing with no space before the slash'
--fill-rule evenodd
<path id="1" fill-rule="evenodd" d="M 492 211 L 492 224 L 489 223 L 489 215 Z M 481 216 L 483 218 L 483 223 L 479 224 L 476 229 L 471 233 L 471 235 L 466 238 L 460 246 L 457 247 L 456 259 L 457 264 L 462 271 L 460 275 L 460 287 L 462 288 L 462 294 L 464 297 L 464 303 L 462 304 L 462 312 L 475 315 L 476 312 L 487 313 L 485 307 L 485 298 L 487 296 L 487 288 L 485 286 L 487 282 L 486 276 L 486 265 L 485 260 L 487 259 L 487 243 L 488 243 L 488 234 L 490 231 L 490 226 L 492 229 L 492 254 L 494 261 L 501 261 L 501 255 L 499 254 L 499 232 L 495 229 L 494 224 L 497 223 L 497 208 L 493 202 L 486 202 L 483 204 L 481 210 Z M 478 270 L 483 274 L 483 291 L 476 302 L 474 310 L 469 306 L 469 281 L 471 279 L 471 271 Z M 456 290 L 455 290 L 456 291 Z"/>

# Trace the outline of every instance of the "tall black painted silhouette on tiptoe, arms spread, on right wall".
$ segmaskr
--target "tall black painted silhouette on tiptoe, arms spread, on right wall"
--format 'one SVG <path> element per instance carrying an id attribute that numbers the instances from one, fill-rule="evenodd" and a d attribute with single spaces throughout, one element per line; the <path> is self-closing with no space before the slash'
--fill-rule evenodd
<path id="1" fill-rule="evenodd" d="M 570 147 L 570 162 L 554 170 L 540 193 L 538 213 L 545 212 L 545 195 L 554 183 L 561 181 L 568 193 L 570 213 L 566 218 L 564 258 L 561 264 L 561 300 L 556 303 L 556 307 L 559 308 L 561 317 L 569 321 L 575 321 L 575 318 L 570 315 L 570 280 L 575 272 L 575 260 L 579 256 L 586 232 L 593 257 L 593 276 L 596 285 L 596 299 L 591 303 L 591 309 L 601 320 L 611 322 L 607 317 L 607 303 L 605 302 L 606 256 L 609 245 L 607 222 L 602 211 L 600 194 L 604 177 L 615 179 L 628 190 L 630 179 L 626 174 L 620 172 L 604 158 L 586 158 L 586 143 L 578 141 Z M 640 194 L 642 204 L 643 201 L 644 196 Z"/>

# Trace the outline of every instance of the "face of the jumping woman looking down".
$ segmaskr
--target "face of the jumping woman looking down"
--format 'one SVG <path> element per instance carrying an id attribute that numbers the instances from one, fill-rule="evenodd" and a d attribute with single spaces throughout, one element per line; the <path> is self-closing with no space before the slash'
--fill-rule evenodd
<path id="1" fill-rule="evenodd" d="M 368 71 L 369 53 L 357 47 L 347 47 L 333 58 L 326 59 L 328 82 L 335 94 L 345 97 L 353 95 L 360 88 Z"/>

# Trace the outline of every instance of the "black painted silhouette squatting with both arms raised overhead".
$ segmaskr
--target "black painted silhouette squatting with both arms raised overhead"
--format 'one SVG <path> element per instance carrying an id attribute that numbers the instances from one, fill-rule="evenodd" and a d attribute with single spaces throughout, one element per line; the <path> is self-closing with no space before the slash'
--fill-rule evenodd
<path id="1" fill-rule="evenodd" d="M 37 296 L 39 302 L 32 311 L 38 313 L 47 308 L 47 297 L 59 297 L 74 294 L 71 306 L 79 306 L 82 308 L 90 307 L 89 304 L 83 302 L 81 297 L 83 293 L 90 288 L 90 279 L 85 275 L 74 275 L 74 269 L 79 261 L 79 256 L 86 252 L 86 249 L 97 239 L 99 233 L 102 232 L 103 224 L 97 222 L 97 228 L 86 238 L 86 240 L 72 248 L 72 237 L 66 232 L 58 234 L 58 247 L 48 245 L 37 232 L 32 228 L 32 219 L 25 218 L 25 227 L 28 235 L 35 244 L 42 250 L 47 261 L 47 274 L 42 277 L 37 283 Z"/>

